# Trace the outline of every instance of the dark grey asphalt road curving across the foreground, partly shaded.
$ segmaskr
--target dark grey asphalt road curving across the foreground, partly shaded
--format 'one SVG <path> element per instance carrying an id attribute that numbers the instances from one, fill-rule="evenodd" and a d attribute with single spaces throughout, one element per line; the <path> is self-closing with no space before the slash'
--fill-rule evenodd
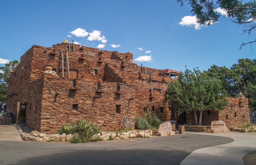
<path id="1" fill-rule="evenodd" d="M 196 149 L 232 141 L 198 134 L 79 144 L 0 141 L 0 164 L 180 164 Z"/>

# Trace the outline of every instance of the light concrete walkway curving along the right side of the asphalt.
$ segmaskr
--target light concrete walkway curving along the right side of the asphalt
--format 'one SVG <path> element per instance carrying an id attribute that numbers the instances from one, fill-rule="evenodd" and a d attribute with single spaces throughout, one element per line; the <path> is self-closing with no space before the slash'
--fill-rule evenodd
<path id="1" fill-rule="evenodd" d="M 223 136 L 234 139 L 233 142 L 213 147 L 197 149 L 189 154 L 181 165 L 187 164 L 244 164 L 243 157 L 245 154 L 256 151 L 256 133 L 196 133 L 191 134 Z M 218 138 L 218 137 L 216 137 Z"/>

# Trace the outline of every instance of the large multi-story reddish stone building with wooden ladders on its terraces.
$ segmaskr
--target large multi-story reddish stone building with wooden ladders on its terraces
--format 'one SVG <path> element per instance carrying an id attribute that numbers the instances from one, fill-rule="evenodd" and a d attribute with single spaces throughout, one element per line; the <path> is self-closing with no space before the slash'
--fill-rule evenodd
<path id="1" fill-rule="evenodd" d="M 22 102 L 19 123 L 42 133 L 78 118 L 103 130 L 120 128 L 122 117 L 134 119 L 147 111 L 170 120 L 164 92 L 180 72 L 138 66 L 132 58 L 130 52 L 99 51 L 67 40 L 52 47 L 33 45 L 10 75 L 7 111 L 16 119 Z"/>

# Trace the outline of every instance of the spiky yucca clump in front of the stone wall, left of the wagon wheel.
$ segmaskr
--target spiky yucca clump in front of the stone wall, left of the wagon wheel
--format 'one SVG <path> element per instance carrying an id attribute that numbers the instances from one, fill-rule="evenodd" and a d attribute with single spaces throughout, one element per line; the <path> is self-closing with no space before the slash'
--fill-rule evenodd
<path id="1" fill-rule="evenodd" d="M 75 134 L 74 142 L 98 141 L 99 137 L 93 137 L 97 133 L 101 133 L 101 128 L 98 124 L 93 123 L 89 120 L 78 119 L 76 122 L 71 124 L 65 124 L 58 128 L 58 134 Z"/>

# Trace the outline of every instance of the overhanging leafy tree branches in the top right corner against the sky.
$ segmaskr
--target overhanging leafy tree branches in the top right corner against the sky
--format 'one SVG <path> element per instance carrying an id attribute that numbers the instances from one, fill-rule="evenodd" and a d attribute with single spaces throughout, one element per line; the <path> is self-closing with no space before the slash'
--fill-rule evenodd
<path id="1" fill-rule="evenodd" d="M 230 17 L 232 22 L 242 25 L 243 32 L 248 33 L 248 36 L 254 34 L 256 28 L 255 0 L 249 2 L 242 0 L 177 0 L 177 2 L 181 3 L 181 6 L 184 2 L 188 2 L 192 8 L 191 12 L 196 15 L 197 23 L 200 25 L 211 25 L 217 22 L 220 14 L 216 9 L 219 8 L 227 12 L 226 16 Z M 252 41 L 243 42 L 241 47 L 254 42 L 256 42 L 255 38 Z"/>

